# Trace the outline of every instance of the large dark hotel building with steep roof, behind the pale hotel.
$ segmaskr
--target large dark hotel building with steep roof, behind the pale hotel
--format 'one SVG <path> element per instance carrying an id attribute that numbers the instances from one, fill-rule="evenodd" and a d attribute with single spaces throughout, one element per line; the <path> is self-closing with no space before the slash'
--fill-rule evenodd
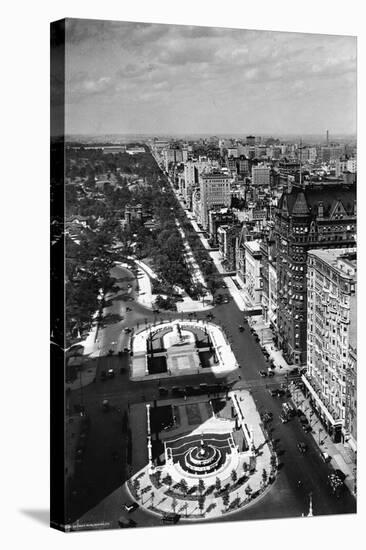
<path id="1" fill-rule="evenodd" d="M 289 185 L 275 218 L 277 339 L 289 363 L 306 365 L 307 253 L 355 246 L 356 186 Z"/>

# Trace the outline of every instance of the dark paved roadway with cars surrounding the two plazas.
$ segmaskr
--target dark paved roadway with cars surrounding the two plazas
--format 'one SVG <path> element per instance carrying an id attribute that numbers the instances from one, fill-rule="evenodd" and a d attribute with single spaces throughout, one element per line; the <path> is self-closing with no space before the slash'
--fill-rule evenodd
<path id="1" fill-rule="evenodd" d="M 134 297 L 136 282 L 127 281 L 131 277 L 126 269 L 114 268 L 114 275 L 119 279 L 120 291 L 114 296 L 111 303 L 111 312 L 123 315 L 124 319 L 118 323 L 107 324 L 100 338 L 102 348 L 107 352 L 113 345 L 124 346 L 125 337 L 118 340 L 118 334 L 124 334 L 123 329 L 140 327 L 160 321 L 161 319 L 177 318 L 177 313 L 154 315 L 151 310 L 144 308 L 134 300 L 126 301 L 127 284 L 132 284 L 130 296 Z M 221 290 L 230 298 L 229 303 L 216 306 L 212 310 L 213 322 L 225 330 L 233 352 L 240 365 L 240 369 L 230 373 L 226 378 L 234 388 L 251 388 L 253 397 L 260 412 L 273 412 L 273 430 L 269 435 L 275 441 L 280 451 L 281 468 L 272 489 L 260 500 L 254 502 L 245 510 L 223 518 L 226 520 L 260 519 L 274 517 L 293 517 L 307 514 L 309 493 L 313 495 L 313 509 L 315 515 L 352 513 L 356 511 L 356 501 L 345 490 L 340 499 L 329 494 L 327 475 L 329 465 L 320 458 L 320 452 L 311 435 L 304 434 L 300 422 L 294 418 L 287 424 L 279 421 L 281 399 L 270 396 L 266 386 L 283 382 L 284 377 L 279 371 L 275 377 L 261 378 L 260 370 L 267 368 L 267 363 L 261 352 L 260 345 L 255 341 L 248 325 L 245 331 L 239 332 L 238 326 L 244 324 L 243 313 L 232 301 L 226 290 Z M 126 311 L 129 307 L 131 311 Z M 115 308 L 115 309 L 114 309 Z M 118 310 L 118 311 L 117 311 Z M 179 314 L 182 319 L 190 318 L 188 314 Z M 204 319 L 205 312 L 197 313 L 194 318 Z M 117 335 L 117 337 L 116 337 Z M 112 342 L 118 341 L 118 344 Z M 130 406 L 145 400 L 158 397 L 156 381 L 131 382 L 128 377 L 129 357 L 124 354 L 118 356 L 101 356 L 97 361 L 96 382 L 68 394 L 67 407 L 72 412 L 82 404 L 90 418 L 90 428 L 87 435 L 87 444 L 82 462 L 77 464 L 75 481 L 68 486 L 70 508 L 68 511 L 70 522 L 81 518 L 82 522 L 105 521 L 109 526 L 117 526 L 121 515 L 121 503 L 127 498 L 121 489 L 125 479 L 131 475 L 126 462 L 127 435 L 123 432 L 123 416 L 129 413 Z M 102 381 L 101 370 L 115 368 L 118 373 L 114 379 Z M 121 369 L 122 374 L 119 374 Z M 215 376 L 211 373 L 204 375 L 171 377 L 164 379 L 164 386 L 197 385 L 202 382 L 212 382 Z M 220 379 L 222 381 L 222 378 Z M 108 399 L 111 411 L 103 412 L 101 402 Z M 306 441 L 308 452 L 302 455 L 296 444 Z M 113 459 L 117 453 L 117 459 Z M 133 470 L 132 470 L 133 471 Z M 298 486 L 298 481 L 301 486 Z M 156 516 L 138 510 L 133 514 L 140 525 L 159 525 L 160 519 Z M 183 520 L 184 522 L 184 520 Z"/>

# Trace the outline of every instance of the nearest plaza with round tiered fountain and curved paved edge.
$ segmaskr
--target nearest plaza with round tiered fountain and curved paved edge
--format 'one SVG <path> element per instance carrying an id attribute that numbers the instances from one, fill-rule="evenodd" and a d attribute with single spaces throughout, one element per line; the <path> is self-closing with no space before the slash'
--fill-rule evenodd
<path id="1" fill-rule="evenodd" d="M 164 425 L 170 409 L 173 422 Z M 275 481 L 276 458 L 248 391 L 147 404 L 145 427 L 148 463 L 126 487 L 153 514 L 221 517 L 248 506 Z"/>

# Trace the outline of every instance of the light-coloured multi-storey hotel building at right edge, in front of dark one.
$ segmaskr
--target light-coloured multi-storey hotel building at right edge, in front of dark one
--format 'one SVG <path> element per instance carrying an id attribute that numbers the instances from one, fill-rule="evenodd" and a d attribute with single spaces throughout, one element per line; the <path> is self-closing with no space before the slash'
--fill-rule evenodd
<path id="1" fill-rule="evenodd" d="M 335 442 L 356 446 L 356 249 L 308 252 L 307 373 L 303 381 Z"/>

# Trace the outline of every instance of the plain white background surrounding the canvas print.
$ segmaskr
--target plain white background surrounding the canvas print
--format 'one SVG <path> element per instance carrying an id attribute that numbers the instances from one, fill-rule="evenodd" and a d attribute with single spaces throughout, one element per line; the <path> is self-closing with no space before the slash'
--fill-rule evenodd
<path id="1" fill-rule="evenodd" d="M 365 18 L 362 2 L 198 0 L 8 2 L 1 10 L 1 433 L 2 548 L 58 549 L 116 544 L 150 548 L 364 547 L 365 497 L 352 517 L 65 535 L 48 528 L 49 507 L 49 23 L 63 17 L 152 21 L 357 35 L 359 157 L 365 150 Z M 5 120 L 5 127 L 3 126 Z M 366 185 L 359 158 L 359 267 L 363 259 Z M 359 269 L 362 282 L 363 269 Z M 365 490 L 362 418 L 364 292 L 359 293 L 359 492 Z M 61 436 L 61 434 L 60 434 Z M 365 535 L 363 535 L 365 537 Z"/>

